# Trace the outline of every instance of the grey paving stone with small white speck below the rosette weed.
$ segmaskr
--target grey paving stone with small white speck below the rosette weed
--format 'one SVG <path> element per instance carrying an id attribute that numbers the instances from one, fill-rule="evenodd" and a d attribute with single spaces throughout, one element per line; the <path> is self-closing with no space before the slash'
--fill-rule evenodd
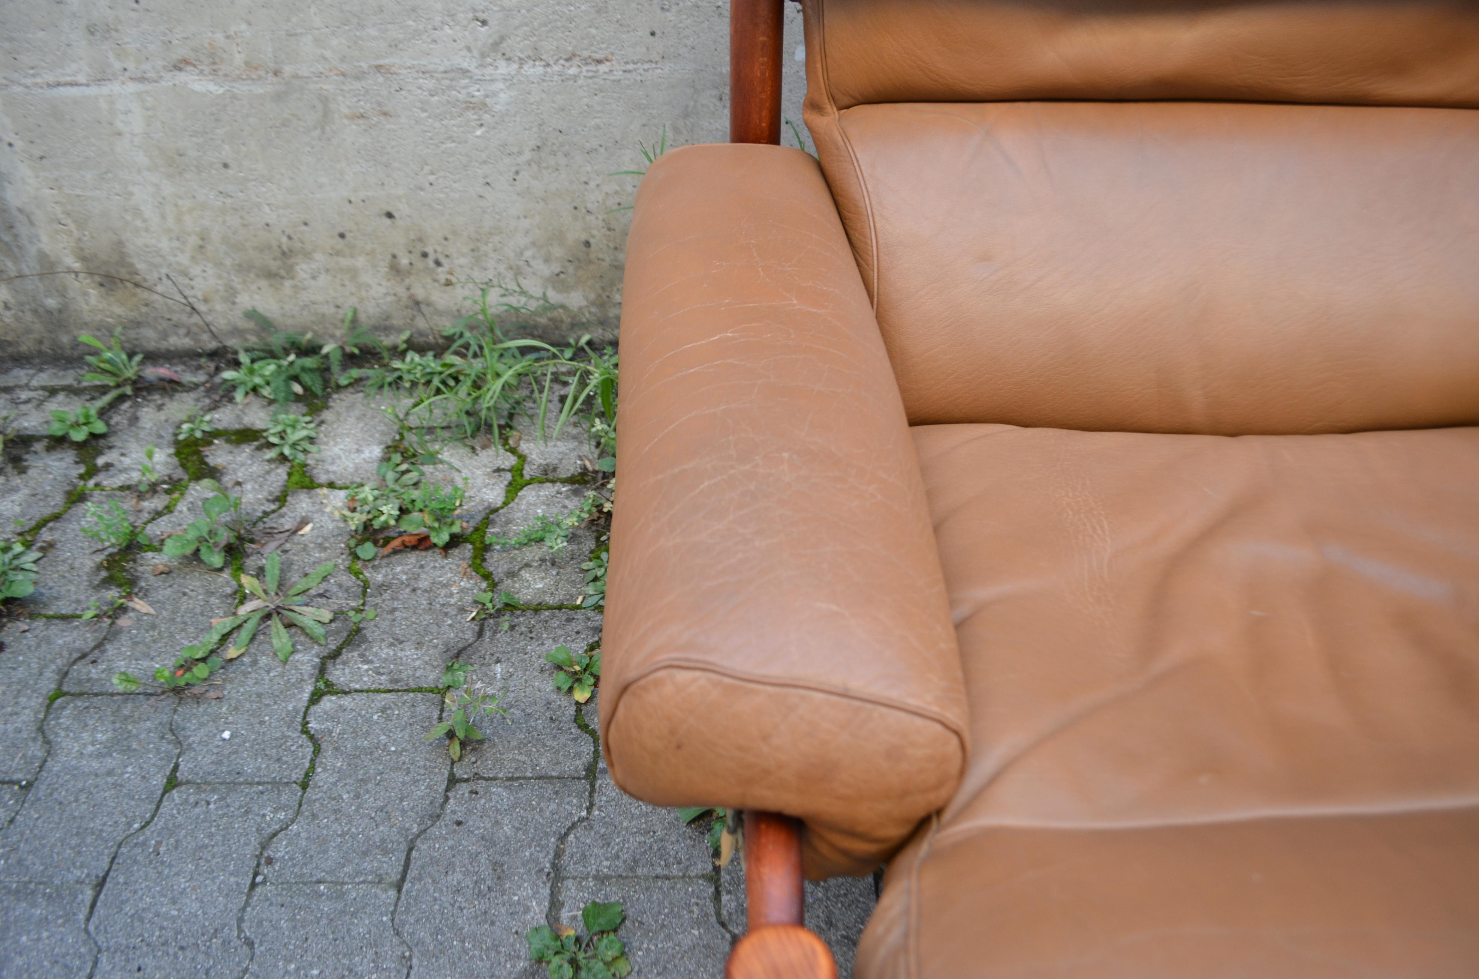
<path id="1" fill-rule="evenodd" d="M 303 778 L 314 756 L 314 742 L 302 731 L 303 708 L 318 679 L 318 652 L 299 640 L 293 658 L 280 663 L 271 643 L 259 639 L 216 674 L 220 699 L 180 698 L 175 713 L 180 782 Z M 222 736 L 226 732 L 229 738 Z"/>

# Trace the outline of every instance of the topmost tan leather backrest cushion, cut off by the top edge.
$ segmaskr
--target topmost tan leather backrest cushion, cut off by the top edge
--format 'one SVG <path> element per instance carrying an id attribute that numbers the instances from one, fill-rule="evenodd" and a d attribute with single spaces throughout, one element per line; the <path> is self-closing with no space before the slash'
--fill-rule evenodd
<path id="1" fill-rule="evenodd" d="M 806 0 L 815 89 L 871 102 L 1479 106 L 1475 0 Z"/>

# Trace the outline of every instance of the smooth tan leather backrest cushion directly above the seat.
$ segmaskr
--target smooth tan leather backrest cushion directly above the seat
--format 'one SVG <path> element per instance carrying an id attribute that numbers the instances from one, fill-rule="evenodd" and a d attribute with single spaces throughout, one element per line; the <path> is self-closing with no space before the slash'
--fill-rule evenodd
<path id="1" fill-rule="evenodd" d="M 913 424 L 1479 423 L 1479 112 L 809 117 Z"/>

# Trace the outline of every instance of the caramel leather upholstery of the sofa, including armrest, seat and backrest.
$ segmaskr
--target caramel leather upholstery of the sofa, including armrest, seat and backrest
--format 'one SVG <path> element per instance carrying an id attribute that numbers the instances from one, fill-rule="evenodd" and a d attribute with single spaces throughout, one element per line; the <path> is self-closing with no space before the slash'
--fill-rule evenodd
<path id="1" fill-rule="evenodd" d="M 856 975 L 1479 975 L 1479 4 L 806 0 L 642 182 L 602 748 Z"/>

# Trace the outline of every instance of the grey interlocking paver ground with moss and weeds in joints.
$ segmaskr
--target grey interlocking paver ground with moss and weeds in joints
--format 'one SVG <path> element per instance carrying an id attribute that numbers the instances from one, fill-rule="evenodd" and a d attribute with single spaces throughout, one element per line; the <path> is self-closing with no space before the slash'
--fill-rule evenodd
<path id="1" fill-rule="evenodd" d="M 74 386 L 80 370 L 0 367 L 0 430 L 16 432 L 0 466 L 0 540 L 34 531 L 46 552 L 35 593 L 10 603 L 0 630 L 0 979 L 534 978 L 543 967 L 528 961 L 524 932 L 575 924 L 593 899 L 626 907 L 620 936 L 636 976 L 720 976 L 744 929 L 738 862 L 716 868 L 705 825 L 611 782 L 599 688 L 577 707 L 543 660 L 600 636 L 599 611 L 575 608 L 595 534 L 577 529 L 553 555 L 488 549 L 491 581 L 466 543 L 352 572 L 349 529 L 330 507 L 374 479 L 396 436 L 380 401 L 351 387 L 315 405 L 321 453 L 290 481 L 241 432 L 263 429 L 269 405 L 235 404 L 203 383 L 203 365 L 173 368 L 185 385 L 114 404 L 109 432 L 78 447 L 44 435 L 52 408 L 96 396 Z M 355 629 L 337 615 L 325 646 L 299 639 L 287 664 L 262 630 L 213 677 L 219 698 L 121 694 L 115 671 L 148 677 L 172 663 L 238 590 L 195 558 L 135 553 L 105 566 L 80 532 L 86 503 L 120 500 L 152 538 L 198 516 L 209 494 L 183 484 L 173 448 L 176 426 L 203 410 L 237 430 L 204 457 L 222 484 L 240 482 L 253 526 L 312 524 L 278 552 L 284 580 L 334 560 L 314 603 L 377 617 Z M 456 469 L 429 472 L 467 478 L 469 524 L 488 516 L 509 534 L 584 495 L 583 433 L 550 445 L 522 435 L 534 482 L 515 484 L 519 455 L 494 447 L 453 447 L 444 457 Z M 175 492 L 127 490 L 148 445 Z M 152 574 L 157 563 L 170 572 Z M 260 565 L 251 556 L 244 569 Z M 472 596 L 490 586 L 540 608 L 469 621 Z M 130 592 L 155 614 L 77 618 Z M 507 691 L 512 714 L 456 765 L 444 742 L 423 741 L 454 658 Z M 845 976 L 873 899 L 873 880 L 808 886 L 808 924 Z"/>

